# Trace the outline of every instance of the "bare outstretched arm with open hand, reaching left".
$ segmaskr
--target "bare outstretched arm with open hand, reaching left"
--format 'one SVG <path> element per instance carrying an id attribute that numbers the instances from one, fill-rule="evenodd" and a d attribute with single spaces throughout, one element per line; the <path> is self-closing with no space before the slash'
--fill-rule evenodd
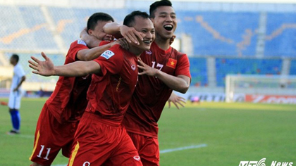
<path id="1" fill-rule="evenodd" d="M 74 63 L 68 63 L 66 65 L 54 66 L 51 59 L 43 52 L 42 56 L 45 61 L 41 61 L 34 56 L 31 56 L 34 61 L 29 60 L 29 66 L 33 69 L 32 72 L 37 75 L 80 77 L 89 74 L 99 74 L 99 72 L 101 72 L 101 66 L 94 61 L 75 61 Z"/>

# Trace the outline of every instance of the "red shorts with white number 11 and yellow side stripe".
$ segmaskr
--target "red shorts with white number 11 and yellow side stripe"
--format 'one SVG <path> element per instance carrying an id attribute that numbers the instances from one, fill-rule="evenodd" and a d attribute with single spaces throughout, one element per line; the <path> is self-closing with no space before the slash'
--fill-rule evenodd
<path id="1" fill-rule="evenodd" d="M 58 123 L 47 104 L 44 104 L 37 122 L 30 160 L 40 165 L 51 165 L 61 149 L 63 155 L 69 158 L 77 127 L 78 122 Z"/>

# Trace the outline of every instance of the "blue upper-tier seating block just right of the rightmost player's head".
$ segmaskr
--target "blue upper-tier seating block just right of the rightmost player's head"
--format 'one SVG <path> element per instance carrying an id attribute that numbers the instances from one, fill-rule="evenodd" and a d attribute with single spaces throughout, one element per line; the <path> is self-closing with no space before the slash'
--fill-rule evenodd
<path id="1" fill-rule="evenodd" d="M 254 56 L 259 13 L 182 11 L 177 33 L 192 36 L 194 55 Z"/>

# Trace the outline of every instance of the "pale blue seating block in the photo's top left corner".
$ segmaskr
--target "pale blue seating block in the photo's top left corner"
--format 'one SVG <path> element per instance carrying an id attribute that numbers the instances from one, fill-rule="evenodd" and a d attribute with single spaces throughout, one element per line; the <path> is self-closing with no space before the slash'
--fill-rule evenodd
<path id="1" fill-rule="evenodd" d="M 0 6 L 0 49 L 57 49 L 39 6 Z"/>

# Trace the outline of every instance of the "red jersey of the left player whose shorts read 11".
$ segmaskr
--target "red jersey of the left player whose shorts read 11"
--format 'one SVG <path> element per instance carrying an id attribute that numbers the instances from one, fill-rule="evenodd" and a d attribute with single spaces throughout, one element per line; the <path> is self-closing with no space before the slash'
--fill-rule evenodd
<path id="1" fill-rule="evenodd" d="M 74 41 L 70 45 L 64 64 L 73 63 L 78 58 L 76 54 L 82 49 L 89 49 L 84 41 Z M 76 121 L 87 106 L 87 89 L 90 86 L 91 76 L 86 77 L 59 77 L 56 88 L 46 104 L 58 122 Z"/>

